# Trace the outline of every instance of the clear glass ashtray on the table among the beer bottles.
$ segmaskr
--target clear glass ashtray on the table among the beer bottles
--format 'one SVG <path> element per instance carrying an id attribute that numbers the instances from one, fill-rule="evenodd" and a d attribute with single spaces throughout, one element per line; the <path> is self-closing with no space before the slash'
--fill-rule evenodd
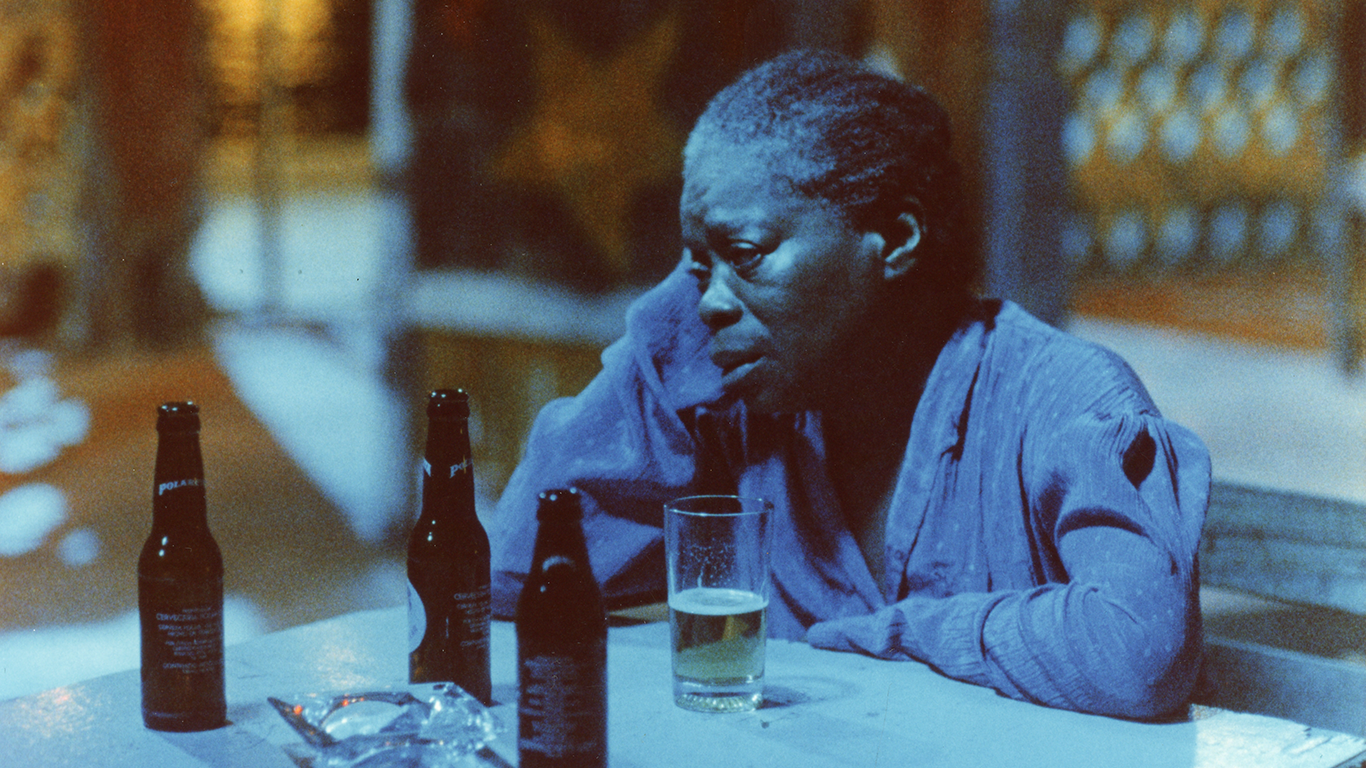
<path id="1" fill-rule="evenodd" d="M 269 697 L 317 752 L 316 768 L 445 768 L 503 732 L 486 707 L 454 683 Z"/>

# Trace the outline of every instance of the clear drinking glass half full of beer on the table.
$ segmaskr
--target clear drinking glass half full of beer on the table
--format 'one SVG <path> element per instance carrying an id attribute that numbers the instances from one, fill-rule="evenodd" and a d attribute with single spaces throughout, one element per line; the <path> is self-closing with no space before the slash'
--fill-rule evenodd
<path id="1" fill-rule="evenodd" d="M 686 496 L 664 506 L 673 702 L 749 712 L 764 698 L 773 504 Z"/>

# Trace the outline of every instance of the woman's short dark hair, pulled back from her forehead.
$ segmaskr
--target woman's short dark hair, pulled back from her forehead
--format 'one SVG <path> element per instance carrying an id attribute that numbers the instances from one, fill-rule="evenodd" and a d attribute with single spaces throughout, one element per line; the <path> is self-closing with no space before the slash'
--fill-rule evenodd
<path id="1" fill-rule="evenodd" d="M 873 228 L 906 198 L 923 213 L 922 277 L 971 292 L 981 261 L 962 232 L 962 182 L 948 113 L 921 87 L 832 51 L 791 51 L 740 75 L 698 118 L 684 169 L 705 145 L 777 142 L 792 186 Z"/>

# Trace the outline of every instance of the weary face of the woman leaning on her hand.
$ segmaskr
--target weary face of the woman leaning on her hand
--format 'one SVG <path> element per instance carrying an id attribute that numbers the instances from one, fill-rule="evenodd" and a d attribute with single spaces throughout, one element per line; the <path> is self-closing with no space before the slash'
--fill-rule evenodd
<path id="1" fill-rule="evenodd" d="M 683 258 L 727 398 L 758 413 L 825 407 L 876 331 L 884 238 L 775 176 L 779 153 L 727 148 L 683 176 Z M 866 348 L 866 346 L 865 346 Z"/>

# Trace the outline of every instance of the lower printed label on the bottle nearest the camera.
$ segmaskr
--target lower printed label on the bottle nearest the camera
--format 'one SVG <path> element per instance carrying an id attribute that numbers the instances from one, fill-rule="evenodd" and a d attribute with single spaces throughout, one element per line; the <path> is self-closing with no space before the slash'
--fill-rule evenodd
<path id="1" fill-rule="evenodd" d="M 600 660 L 531 656 L 522 661 L 518 749 L 546 757 L 604 753 L 607 686 Z"/>

